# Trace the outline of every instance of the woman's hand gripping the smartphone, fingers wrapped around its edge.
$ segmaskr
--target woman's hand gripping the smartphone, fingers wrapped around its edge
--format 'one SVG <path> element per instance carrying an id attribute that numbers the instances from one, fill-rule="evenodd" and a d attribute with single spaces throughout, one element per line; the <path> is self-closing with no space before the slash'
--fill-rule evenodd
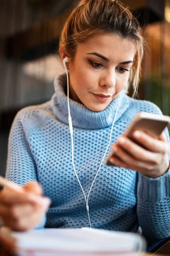
<path id="1" fill-rule="evenodd" d="M 162 133 L 156 139 L 143 131 L 134 131 L 133 138 L 141 146 L 127 137 L 119 137 L 117 143 L 112 145 L 113 156 L 110 162 L 153 178 L 167 172 L 170 163 L 165 135 Z"/>

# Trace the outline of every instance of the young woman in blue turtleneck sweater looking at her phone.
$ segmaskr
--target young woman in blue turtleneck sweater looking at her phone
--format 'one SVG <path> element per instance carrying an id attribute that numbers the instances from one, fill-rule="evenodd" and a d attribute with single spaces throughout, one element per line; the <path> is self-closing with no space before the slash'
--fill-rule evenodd
<path id="1" fill-rule="evenodd" d="M 134 132 L 144 147 L 123 136 L 136 113 L 161 115 L 153 103 L 126 94 L 131 82 L 137 91 L 143 47 L 138 22 L 117 0 L 85 0 L 74 9 L 59 47 L 62 61 L 67 58 L 74 147 L 63 74 L 51 101 L 24 108 L 14 119 L 6 177 L 23 192 L 0 193 L 5 225 L 76 228 L 91 221 L 108 230 L 136 232 L 140 226 L 153 240 L 170 235 L 168 131 L 159 139 Z M 106 166 L 110 135 L 113 166 Z"/>

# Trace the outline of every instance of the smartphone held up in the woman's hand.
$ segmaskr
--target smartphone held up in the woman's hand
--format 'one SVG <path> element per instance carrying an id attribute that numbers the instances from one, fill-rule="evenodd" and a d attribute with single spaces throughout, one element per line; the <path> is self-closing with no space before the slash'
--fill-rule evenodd
<path id="1" fill-rule="evenodd" d="M 129 138 L 130 140 L 133 140 L 135 143 L 137 142 L 132 137 L 132 134 L 135 130 L 144 131 L 150 136 L 154 138 L 158 138 L 159 135 L 164 130 L 164 128 L 169 123 L 170 123 L 170 116 L 162 116 L 162 115 L 156 115 L 156 114 L 151 114 L 147 112 L 140 112 L 135 116 L 135 118 L 127 127 L 123 135 Z M 112 156 L 112 152 L 109 153 L 108 157 L 105 159 L 105 164 L 108 166 L 113 166 L 113 164 L 109 161 L 111 156 Z"/>

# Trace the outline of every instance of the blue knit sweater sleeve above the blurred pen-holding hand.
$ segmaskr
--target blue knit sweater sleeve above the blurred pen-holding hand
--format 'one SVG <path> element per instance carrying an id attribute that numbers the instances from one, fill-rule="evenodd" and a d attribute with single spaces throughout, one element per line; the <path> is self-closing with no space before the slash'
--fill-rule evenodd
<path id="1" fill-rule="evenodd" d="M 23 111 L 17 113 L 8 140 L 6 178 L 18 185 L 38 181 L 37 167 L 23 129 Z M 36 228 L 44 227 L 45 216 Z"/>

